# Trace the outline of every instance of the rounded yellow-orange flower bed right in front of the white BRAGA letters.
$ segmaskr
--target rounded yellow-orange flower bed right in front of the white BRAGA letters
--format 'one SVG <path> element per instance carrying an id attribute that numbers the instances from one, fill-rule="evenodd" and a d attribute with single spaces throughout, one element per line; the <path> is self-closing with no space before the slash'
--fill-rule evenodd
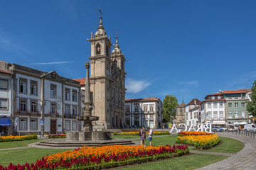
<path id="1" fill-rule="evenodd" d="M 199 132 L 204 133 L 204 132 Z M 186 133 L 183 133 L 186 134 Z M 220 142 L 220 137 L 217 134 L 206 134 L 206 135 L 191 135 L 193 132 L 188 133 L 189 135 L 181 135 L 177 137 L 177 143 L 186 143 L 188 145 L 193 145 L 199 149 L 209 149 L 218 145 Z"/>

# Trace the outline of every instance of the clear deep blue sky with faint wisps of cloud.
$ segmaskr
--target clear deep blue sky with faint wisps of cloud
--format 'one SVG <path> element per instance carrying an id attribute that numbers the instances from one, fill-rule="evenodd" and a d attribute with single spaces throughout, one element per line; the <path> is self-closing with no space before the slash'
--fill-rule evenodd
<path id="1" fill-rule="evenodd" d="M 128 60 L 126 98 L 188 103 L 256 79 L 256 1 L 0 1 L 0 60 L 85 77 L 99 8 Z"/>

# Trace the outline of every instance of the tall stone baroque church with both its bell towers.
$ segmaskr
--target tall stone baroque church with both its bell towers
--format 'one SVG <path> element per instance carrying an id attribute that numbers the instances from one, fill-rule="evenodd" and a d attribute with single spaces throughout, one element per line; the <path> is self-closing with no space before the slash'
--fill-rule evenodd
<path id="1" fill-rule="evenodd" d="M 92 115 L 100 117 L 94 128 L 124 128 L 126 60 L 118 40 L 111 53 L 113 45 L 102 25 L 102 16 L 95 35 L 92 33 L 88 41 L 91 43 L 90 89 L 95 106 Z"/>

